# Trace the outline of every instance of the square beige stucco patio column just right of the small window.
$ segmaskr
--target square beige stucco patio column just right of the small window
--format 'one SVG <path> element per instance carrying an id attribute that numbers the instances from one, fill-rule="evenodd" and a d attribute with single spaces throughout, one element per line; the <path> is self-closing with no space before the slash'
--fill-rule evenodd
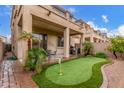
<path id="1" fill-rule="evenodd" d="M 70 36 L 70 30 L 67 27 L 64 31 L 64 57 L 69 58 L 69 36 Z"/>

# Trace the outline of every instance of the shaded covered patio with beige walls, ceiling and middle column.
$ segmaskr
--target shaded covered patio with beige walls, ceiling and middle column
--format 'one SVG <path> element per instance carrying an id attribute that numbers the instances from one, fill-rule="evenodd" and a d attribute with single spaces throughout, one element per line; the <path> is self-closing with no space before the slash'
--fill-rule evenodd
<path id="1" fill-rule="evenodd" d="M 54 56 L 54 58 L 61 57 L 68 59 L 72 55 L 77 55 L 77 52 L 72 54 L 70 49 L 72 46 L 76 46 L 72 39 L 75 38 L 75 36 L 79 36 L 80 38 L 77 45 L 80 49 L 80 54 L 82 53 L 82 32 L 75 31 L 69 27 L 50 22 L 33 15 L 32 33 L 40 40 L 40 44 L 36 44 L 32 41 L 32 47 L 40 46 L 50 55 Z"/>

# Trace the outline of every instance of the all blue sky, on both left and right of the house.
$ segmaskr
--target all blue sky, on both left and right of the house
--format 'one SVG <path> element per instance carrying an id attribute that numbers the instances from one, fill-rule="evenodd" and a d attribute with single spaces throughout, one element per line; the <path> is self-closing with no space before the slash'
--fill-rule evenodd
<path id="1" fill-rule="evenodd" d="M 12 6 L 0 6 L 0 35 L 10 35 L 10 16 Z M 82 19 L 95 29 L 104 30 L 108 34 L 124 35 L 124 6 L 69 5 L 62 6 L 69 10 L 75 18 Z"/>

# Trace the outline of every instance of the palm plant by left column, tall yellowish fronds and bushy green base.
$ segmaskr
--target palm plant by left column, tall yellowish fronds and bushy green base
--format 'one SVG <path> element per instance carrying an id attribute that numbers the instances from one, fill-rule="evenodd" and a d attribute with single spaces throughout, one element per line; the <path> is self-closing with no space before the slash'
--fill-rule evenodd
<path id="1" fill-rule="evenodd" d="M 47 57 L 47 53 L 43 48 L 40 48 L 40 40 L 35 38 L 32 33 L 22 32 L 19 39 L 28 41 L 28 52 L 25 68 L 28 70 L 36 70 L 37 73 L 42 71 L 42 62 Z M 38 41 L 38 48 L 31 48 L 31 40 Z"/>

